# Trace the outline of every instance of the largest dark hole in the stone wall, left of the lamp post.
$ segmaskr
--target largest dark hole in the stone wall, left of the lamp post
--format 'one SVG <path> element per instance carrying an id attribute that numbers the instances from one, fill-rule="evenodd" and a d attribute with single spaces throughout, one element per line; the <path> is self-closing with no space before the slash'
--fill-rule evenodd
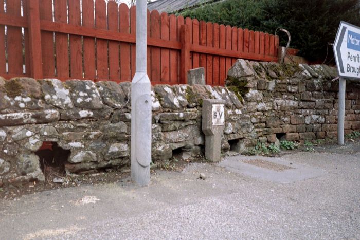
<path id="1" fill-rule="evenodd" d="M 40 158 L 40 167 L 45 177 L 63 176 L 70 153 L 70 150 L 62 149 L 56 142 L 44 142 L 41 149 L 35 152 Z"/>

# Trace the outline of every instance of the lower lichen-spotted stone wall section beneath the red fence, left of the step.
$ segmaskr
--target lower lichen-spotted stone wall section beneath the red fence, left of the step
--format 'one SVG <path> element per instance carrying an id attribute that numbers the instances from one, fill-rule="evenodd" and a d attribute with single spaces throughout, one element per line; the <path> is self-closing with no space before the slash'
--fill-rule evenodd
<path id="1" fill-rule="evenodd" d="M 0 185 L 44 181 L 42 146 L 68 173 L 130 164 L 131 83 L 30 78 L 0 79 Z M 204 98 L 226 100 L 233 122 L 223 137 L 256 138 L 237 96 L 224 87 L 156 85 L 152 88 L 152 159 L 203 154 Z M 49 151 L 49 150 L 46 150 Z M 40 156 L 40 158 L 39 158 Z M 50 159 L 51 160 L 51 159 Z"/>

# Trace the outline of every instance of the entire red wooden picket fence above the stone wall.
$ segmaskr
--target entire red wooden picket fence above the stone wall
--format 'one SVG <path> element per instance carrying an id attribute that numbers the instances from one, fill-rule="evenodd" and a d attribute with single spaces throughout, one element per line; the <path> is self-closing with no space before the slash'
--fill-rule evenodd
<path id="1" fill-rule="evenodd" d="M 131 81 L 135 7 L 104 0 L 0 0 L 0 76 Z M 223 85 L 238 58 L 276 61 L 278 36 L 148 11 L 152 84 L 186 83 L 204 67 Z"/>

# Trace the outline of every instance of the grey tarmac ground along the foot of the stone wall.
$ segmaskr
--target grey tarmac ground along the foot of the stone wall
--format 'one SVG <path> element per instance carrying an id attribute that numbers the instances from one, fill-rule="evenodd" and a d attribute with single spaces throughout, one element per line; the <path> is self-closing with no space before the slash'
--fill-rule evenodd
<path id="1" fill-rule="evenodd" d="M 115 182 L 0 199 L 0 239 L 360 239 L 359 145 L 151 177 L 144 188 Z"/>

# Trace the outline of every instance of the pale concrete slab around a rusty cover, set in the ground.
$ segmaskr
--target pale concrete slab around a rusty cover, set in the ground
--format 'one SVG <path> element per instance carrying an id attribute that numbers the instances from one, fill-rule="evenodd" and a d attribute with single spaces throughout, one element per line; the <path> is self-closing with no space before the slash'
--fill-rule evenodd
<path id="1" fill-rule="evenodd" d="M 297 182 L 328 174 L 325 170 L 290 160 L 262 156 L 226 157 L 219 165 L 232 172 L 279 183 Z"/>

